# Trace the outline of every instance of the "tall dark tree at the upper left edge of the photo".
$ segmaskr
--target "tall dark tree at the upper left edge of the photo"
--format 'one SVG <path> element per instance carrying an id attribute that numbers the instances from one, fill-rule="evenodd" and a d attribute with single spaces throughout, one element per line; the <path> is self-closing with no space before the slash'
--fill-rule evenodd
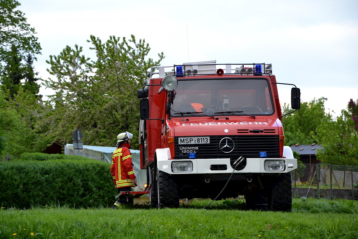
<path id="1" fill-rule="evenodd" d="M 3 89 L 10 89 L 11 98 L 25 78 L 28 90 L 37 94 L 39 88 L 31 75 L 35 54 L 41 54 L 40 43 L 34 37 L 35 29 L 26 23 L 25 14 L 15 10 L 18 6 L 16 0 L 0 0 L 0 83 Z"/>

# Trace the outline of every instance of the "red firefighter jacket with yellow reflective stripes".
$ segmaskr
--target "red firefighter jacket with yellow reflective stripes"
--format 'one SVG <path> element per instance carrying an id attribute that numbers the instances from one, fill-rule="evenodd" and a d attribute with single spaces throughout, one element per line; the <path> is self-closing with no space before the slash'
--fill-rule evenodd
<path id="1" fill-rule="evenodd" d="M 111 173 L 116 188 L 134 187 L 135 179 L 132 163 L 132 155 L 129 144 L 121 144 L 112 155 Z"/>

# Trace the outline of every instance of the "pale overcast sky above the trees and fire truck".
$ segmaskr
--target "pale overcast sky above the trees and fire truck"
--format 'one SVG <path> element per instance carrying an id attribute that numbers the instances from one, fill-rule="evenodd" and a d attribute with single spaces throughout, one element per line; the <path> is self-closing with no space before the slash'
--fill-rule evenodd
<path id="1" fill-rule="evenodd" d="M 104 42 L 133 34 L 149 43 L 148 57 L 164 53 L 162 66 L 271 63 L 277 82 L 299 87 L 301 102 L 327 98 L 333 116 L 358 99 L 358 0 L 18 1 L 37 32 L 42 55 L 34 67 L 44 79 L 54 78 L 45 61 L 67 45 L 93 58 L 90 35 Z M 290 103 L 290 87 L 279 94 Z"/>

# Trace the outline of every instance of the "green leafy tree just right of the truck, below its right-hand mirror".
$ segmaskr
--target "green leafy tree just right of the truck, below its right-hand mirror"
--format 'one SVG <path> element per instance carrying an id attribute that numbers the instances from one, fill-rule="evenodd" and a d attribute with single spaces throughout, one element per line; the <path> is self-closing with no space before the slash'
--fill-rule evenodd
<path id="1" fill-rule="evenodd" d="M 285 145 L 312 144 L 317 140 L 315 135 L 321 125 L 332 122 L 332 116 L 324 112 L 324 97 L 310 102 L 301 102 L 301 109 L 282 118 L 285 133 Z M 282 115 L 291 109 L 284 104 Z M 320 142 L 315 142 L 320 143 Z"/>

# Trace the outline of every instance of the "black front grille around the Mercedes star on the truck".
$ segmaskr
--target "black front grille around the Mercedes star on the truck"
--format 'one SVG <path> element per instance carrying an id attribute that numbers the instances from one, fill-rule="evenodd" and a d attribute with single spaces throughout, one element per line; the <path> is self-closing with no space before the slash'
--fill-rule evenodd
<path id="1" fill-rule="evenodd" d="M 267 158 L 279 157 L 278 135 L 212 135 L 209 137 L 209 144 L 178 144 L 178 137 L 175 137 L 175 159 L 188 159 L 189 153 L 194 151 L 197 159 L 235 158 L 240 156 L 258 158 L 260 157 L 260 152 L 266 152 Z M 232 152 L 225 153 L 220 149 L 222 146 L 219 147 L 219 143 L 223 138 L 233 140 L 234 149 Z"/>

